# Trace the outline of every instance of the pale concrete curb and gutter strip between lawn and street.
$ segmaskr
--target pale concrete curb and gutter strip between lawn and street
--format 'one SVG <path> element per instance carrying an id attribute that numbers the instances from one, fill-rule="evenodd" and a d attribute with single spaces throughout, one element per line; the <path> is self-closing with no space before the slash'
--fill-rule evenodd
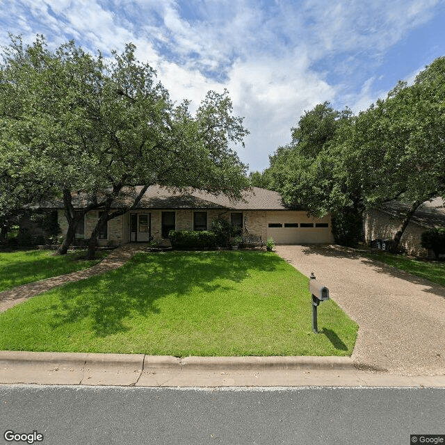
<path id="1" fill-rule="evenodd" d="M 349 357 L 185 357 L 0 351 L 0 383 L 136 387 L 445 387 L 445 375 L 359 371 Z"/>

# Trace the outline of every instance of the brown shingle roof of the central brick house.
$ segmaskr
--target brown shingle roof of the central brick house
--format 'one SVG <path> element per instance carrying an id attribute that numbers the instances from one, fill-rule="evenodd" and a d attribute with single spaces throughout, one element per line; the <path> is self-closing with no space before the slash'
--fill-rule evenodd
<path id="1" fill-rule="evenodd" d="M 127 189 L 122 196 L 116 200 L 112 208 L 118 209 L 131 205 L 134 197 L 140 193 L 142 186 L 136 186 L 133 189 Z M 204 191 L 190 191 L 181 193 L 173 189 L 167 189 L 160 186 L 150 186 L 140 200 L 136 209 L 232 209 L 232 210 L 288 210 L 284 204 L 280 193 L 266 190 L 265 188 L 252 187 L 244 191 L 242 199 L 231 202 L 223 194 L 211 195 Z M 84 194 L 73 193 L 72 202 L 74 208 L 85 207 L 88 203 L 88 196 Z M 53 200 L 41 203 L 40 209 L 52 208 L 62 209 L 62 200 Z M 33 207 L 35 208 L 35 207 Z"/>

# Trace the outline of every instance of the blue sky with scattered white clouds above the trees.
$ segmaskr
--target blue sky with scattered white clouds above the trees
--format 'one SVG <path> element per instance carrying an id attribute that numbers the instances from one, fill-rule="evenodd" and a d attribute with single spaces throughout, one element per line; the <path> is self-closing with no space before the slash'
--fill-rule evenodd
<path id="1" fill-rule="evenodd" d="M 316 104 L 366 110 L 445 55 L 445 0 L 0 0 L 0 45 L 42 34 L 110 56 L 128 42 L 178 103 L 229 90 L 250 171 Z"/>

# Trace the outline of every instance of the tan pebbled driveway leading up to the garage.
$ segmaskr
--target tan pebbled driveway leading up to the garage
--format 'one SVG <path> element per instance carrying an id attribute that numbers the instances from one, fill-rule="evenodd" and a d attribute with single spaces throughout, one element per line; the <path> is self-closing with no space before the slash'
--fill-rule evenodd
<path id="1" fill-rule="evenodd" d="M 445 374 L 445 287 L 334 245 L 277 245 L 359 325 L 355 366 L 403 375 Z"/>

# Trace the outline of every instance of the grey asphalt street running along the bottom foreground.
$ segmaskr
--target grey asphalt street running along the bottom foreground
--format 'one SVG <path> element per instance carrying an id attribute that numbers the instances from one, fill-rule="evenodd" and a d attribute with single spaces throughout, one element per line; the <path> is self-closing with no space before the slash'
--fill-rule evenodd
<path id="1" fill-rule="evenodd" d="M 0 426 L 0 444 L 405 445 L 445 434 L 445 389 L 1 385 Z"/>

